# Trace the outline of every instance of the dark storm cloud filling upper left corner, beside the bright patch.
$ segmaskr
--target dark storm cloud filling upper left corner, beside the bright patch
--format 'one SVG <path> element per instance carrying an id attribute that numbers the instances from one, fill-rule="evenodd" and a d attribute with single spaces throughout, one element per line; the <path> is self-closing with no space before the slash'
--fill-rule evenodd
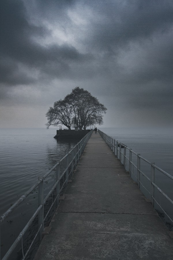
<path id="1" fill-rule="evenodd" d="M 45 8 L 48 2 L 45 2 Z M 67 4 L 68 1 L 63 1 Z M 42 2 L 43 5 L 43 2 Z M 62 7 L 61 7 L 62 8 Z M 1 2 L 1 82 L 16 85 L 37 81 L 32 75 L 21 72 L 18 66 L 24 64 L 35 68 L 47 77 L 68 77 L 71 62 L 83 63 L 91 55 L 80 54 L 73 46 L 49 44 L 41 46 L 32 37 L 44 37 L 51 32 L 27 21 L 27 14 L 22 1 Z"/>

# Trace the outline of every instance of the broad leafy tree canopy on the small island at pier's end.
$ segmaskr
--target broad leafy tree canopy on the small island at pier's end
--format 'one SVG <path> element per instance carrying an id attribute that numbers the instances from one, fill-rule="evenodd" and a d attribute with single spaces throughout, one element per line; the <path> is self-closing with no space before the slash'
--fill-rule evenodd
<path id="1" fill-rule="evenodd" d="M 86 129 L 92 124 L 103 124 L 103 114 L 107 108 L 98 99 L 83 88 L 76 87 L 63 100 L 54 102 L 46 113 L 47 128 L 50 125 L 65 125 L 69 130 L 76 122 L 79 129 Z"/>

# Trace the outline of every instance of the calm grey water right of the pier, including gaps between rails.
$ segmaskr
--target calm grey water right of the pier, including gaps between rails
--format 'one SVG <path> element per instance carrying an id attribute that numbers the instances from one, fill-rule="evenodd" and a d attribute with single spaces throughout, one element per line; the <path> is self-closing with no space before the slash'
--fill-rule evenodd
<path id="1" fill-rule="evenodd" d="M 127 145 L 128 148 L 132 149 L 135 153 L 139 153 L 142 157 L 150 162 L 154 162 L 156 166 L 162 170 L 168 172 L 173 176 L 173 132 L 172 129 L 155 128 L 155 129 L 136 129 L 136 128 L 99 128 L 101 131 L 111 136 L 115 140 Z M 123 149 L 122 149 L 123 152 Z M 126 152 L 129 158 L 129 151 Z M 132 161 L 137 165 L 137 156 L 132 155 Z M 129 162 L 128 162 L 129 163 Z M 127 166 L 128 166 L 127 163 Z M 140 160 L 140 169 L 144 174 L 151 178 L 151 166 L 142 159 Z M 127 170 L 129 170 L 127 168 Z M 137 170 L 132 167 L 134 175 L 137 176 Z M 136 177 L 132 175 L 134 181 L 137 181 Z M 150 192 L 151 183 L 141 176 L 141 183 Z M 163 173 L 155 169 L 155 184 L 173 200 L 173 181 L 165 176 Z M 143 194 L 150 199 L 149 192 L 141 186 Z M 160 203 L 161 207 L 168 213 L 173 219 L 173 211 L 171 203 L 155 189 L 155 198 Z M 161 212 L 161 209 L 155 203 L 155 209 Z M 170 225 L 170 220 L 165 216 L 161 215 L 163 221 L 168 223 L 168 227 L 173 230 Z"/>

